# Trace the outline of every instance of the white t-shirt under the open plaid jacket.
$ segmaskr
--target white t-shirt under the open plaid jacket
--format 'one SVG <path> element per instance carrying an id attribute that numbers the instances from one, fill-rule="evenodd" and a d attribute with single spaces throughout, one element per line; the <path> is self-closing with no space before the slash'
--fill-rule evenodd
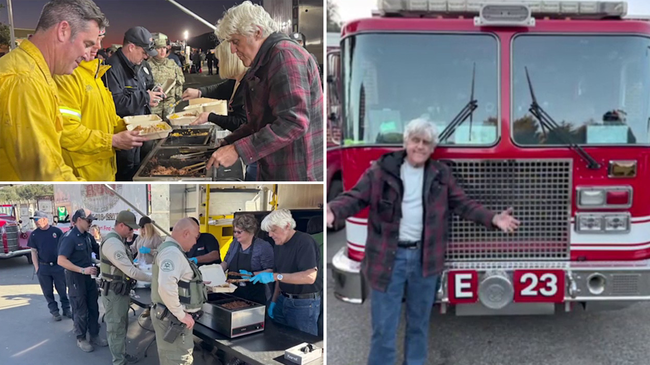
<path id="1" fill-rule="evenodd" d="M 402 197 L 402 220 L 400 220 L 400 241 L 419 241 L 422 239 L 424 207 L 422 207 L 422 187 L 424 186 L 424 166 L 415 168 L 404 160 L 400 168 L 404 197 Z"/>

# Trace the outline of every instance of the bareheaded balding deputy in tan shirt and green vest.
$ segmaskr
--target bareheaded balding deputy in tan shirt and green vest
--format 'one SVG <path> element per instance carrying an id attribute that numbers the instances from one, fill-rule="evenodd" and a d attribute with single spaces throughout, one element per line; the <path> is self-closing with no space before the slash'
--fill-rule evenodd
<path id="1" fill-rule="evenodd" d="M 153 260 L 151 323 L 156 333 L 161 365 L 190 365 L 193 362 L 192 327 L 196 312 L 207 299 L 201 271 L 185 257 L 196 244 L 199 226 L 189 218 L 179 220 Z M 171 328 L 170 328 L 171 327 Z"/>

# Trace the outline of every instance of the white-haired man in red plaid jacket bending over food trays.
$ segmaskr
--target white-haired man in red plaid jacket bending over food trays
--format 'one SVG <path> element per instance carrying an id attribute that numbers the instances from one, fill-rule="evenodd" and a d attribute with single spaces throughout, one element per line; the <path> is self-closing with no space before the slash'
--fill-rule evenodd
<path id="1" fill-rule="evenodd" d="M 258 162 L 258 181 L 322 181 L 323 95 L 318 65 L 278 32 L 262 6 L 233 6 L 216 35 L 250 67 L 242 85 L 248 123 L 225 138 L 207 162 L 232 166 Z"/>

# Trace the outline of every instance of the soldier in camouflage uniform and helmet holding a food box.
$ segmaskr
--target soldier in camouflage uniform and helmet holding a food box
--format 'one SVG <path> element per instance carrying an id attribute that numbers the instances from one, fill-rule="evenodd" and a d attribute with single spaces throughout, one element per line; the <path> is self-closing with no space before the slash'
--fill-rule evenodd
<path id="1" fill-rule="evenodd" d="M 168 38 L 162 33 L 153 33 L 153 42 L 156 45 L 158 55 L 149 58 L 149 65 L 153 73 L 153 80 L 156 84 L 164 84 L 168 79 L 175 79 L 176 83 L 172 90 L 167 94 L 167 98 L 161 101 L 157 107 L 151 108 L 151 114 L 157 114 L 162 119 L 166 118 L 169 114 L 174 112 L 171 105 L 181 100 L 183 95 L 183 83 L 185 83 L 185 75 L 183 70 L 178 67 L 176 62 L 167 58 Z M 164 91 L 164 90 L 163 90 Z"/>

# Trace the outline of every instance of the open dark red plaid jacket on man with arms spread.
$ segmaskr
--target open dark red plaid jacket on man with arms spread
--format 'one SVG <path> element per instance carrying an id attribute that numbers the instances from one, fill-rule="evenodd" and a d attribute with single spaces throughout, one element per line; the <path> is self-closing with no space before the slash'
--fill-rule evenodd
<path id="1" fill-rule="evenodd" d="M 339 195 L 329 205 L 335 225 L 369 207 L 368 236 L 361 271 L 370 287 L 385 292 L 392 277 L 393 263 L 402 219 L 404 185 L 400 168 L 406 151 L 383 155 L 361 176 L 359 182 Z M 422 232 L 422 275 L 439 274 L 445 267 L 450 210 L 466 220 L 493 227 L 495 215 L 465 195 L 456 184 L 451 169 L 433 159 L 428 160 L 422 188 L 424 229 Z"/>

